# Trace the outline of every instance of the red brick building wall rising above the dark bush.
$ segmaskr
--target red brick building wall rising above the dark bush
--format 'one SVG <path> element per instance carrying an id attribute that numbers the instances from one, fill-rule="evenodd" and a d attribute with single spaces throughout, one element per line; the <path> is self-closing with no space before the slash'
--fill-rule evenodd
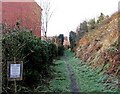
<path id="1" fill-rule="evenodd" d="M 36 2 L 2 2 L 2 23 L 14 27 L 20 21 L 22 27 L 41 37 L 41 11 Z"/>

